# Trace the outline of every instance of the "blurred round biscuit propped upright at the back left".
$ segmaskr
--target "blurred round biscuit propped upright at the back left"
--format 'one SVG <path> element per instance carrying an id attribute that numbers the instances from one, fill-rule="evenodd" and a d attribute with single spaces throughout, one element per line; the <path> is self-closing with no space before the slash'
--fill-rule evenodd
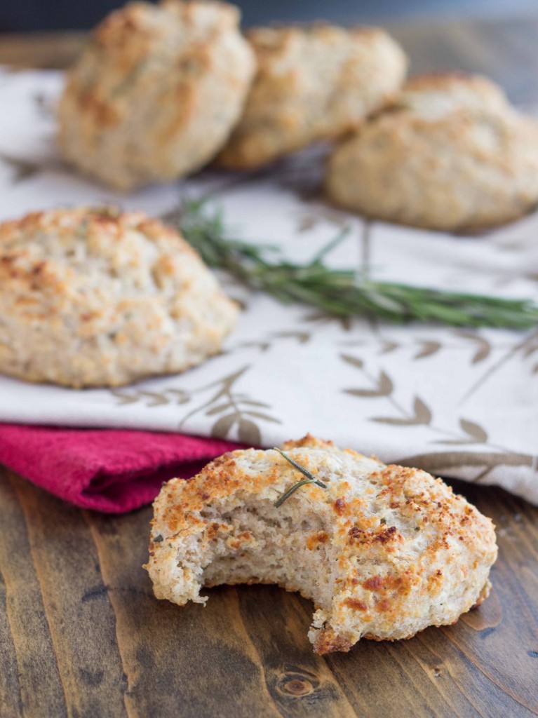
<path id="1" fill-rule="evenodd" d="M 120 190 L 207 164 L 254 74 L 238 21 L 235 6 L 209 0 L 134 2 L 106 17 L 60 101 L 65 159 Z"/>

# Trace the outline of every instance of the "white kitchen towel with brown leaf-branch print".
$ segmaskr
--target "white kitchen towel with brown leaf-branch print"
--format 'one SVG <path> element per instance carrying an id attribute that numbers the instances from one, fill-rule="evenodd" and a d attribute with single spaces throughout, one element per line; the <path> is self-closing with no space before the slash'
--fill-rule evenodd
<path id="1" fill-rule="evenodd" d="M 322 151 L 255 174 L 207 171 L 129 196 L 111 192 L 57 154 L 61 85 L 59 73 L 0 73 L 0 220 L 107 202 L 161 216 L 185 197 L 210 193 L 238 236 L 277 245 L 295 261 L 308 261 L 350 226 L 330 255 L 332 266 L 537 297 L 538 214 L 472 237 L 366 223 L 323 202 Z M 268 447 L 311 432 L 538 503 L 538 331 L 342 321 L 223 281 L 244 312 L 221 355 L 119 389 L 75 391 L 0 377 L 0 421 L 186 432 Z"/>

